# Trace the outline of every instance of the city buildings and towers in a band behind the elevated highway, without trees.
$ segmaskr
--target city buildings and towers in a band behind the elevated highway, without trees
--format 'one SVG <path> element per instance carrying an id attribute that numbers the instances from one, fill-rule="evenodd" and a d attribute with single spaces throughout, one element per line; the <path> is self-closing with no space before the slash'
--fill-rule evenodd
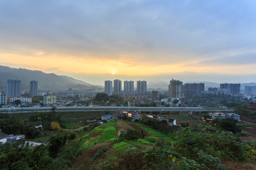
<path id="1" fill-rule="evenodd" d="M 28 90 L 21 90 L 21 81 L 20 80 L 7 80 L 6 90 L 2 89 L 0 93 L 0 106 L 1 107 L 12 107 L 18 106 L 16 100 L 19 101 L 19 107 L 28 107 L 28 106 L 49 106 L 49 107 L 58 107 L 66 105 L 77 105 L 79 106 L 89 106 L 93 105 L 93 99 L 97 93 L 106 93 L 110 97 L 113 95 L 118 95 L 123 99 L 123 104 L 126 106 L 137 106 L 139 104 L 145 104 L 150 102 L 155 102 L 156 106 L 159 106 L 159 103 L 165 102 L 165 104 L 173 105 L 174 107 L 185 106 L 185 103 L 182 102 L 183 98 L 195 95 L 206 95 L 210 94 L 213 96 L 233 96 L 239 97 L 241 100 L 249 100 L 255 102 L 256 100 L 256 85 L 245 85 L 244 89 L 241 89 L 241 84 L 233 83 L 224 83 L 219 84 L 219 87 L 209 87 L 205 89 L 204 83 L 185 83 L 183 84 L 180 80 L 170 80 L 168 91 L 161 90 L 160 88 L 149 90 L 147 89 L 147 82 L 145 80 L 137 81 L 137 88 L 134 88 L 134 81 L 126 80 L 123 82 L 119 79 L 113 81 L 106 80 L 104 89 L 96 90 L 72 90 L 72 88 L 67 88 L 66 91 L 38 91 L 38 82 L 36 80 L 30 81 L 30 88 Z M 243 91 L 241 93 L 241 91 Z M 161 94 L 161 95 L 160 95 Z M 41 101 L 33 102 L 33 96 L 42 96 Z M 78 101 L 74 102 L 72 97 Z M 161 96 L 161 97 L 160 97 Z M 68 100 L 71 98 L 72 100 Z M 130 101 L 129 101 L 130 100 Z M 179 100 L 180 102 L 176 105 L 173 104 L 173 100 Z M 70 102 L 71 101 L 71 102 Z M 83 101 L 84 104 L 80 104 L 80 101 Z M 85 102 L 86 101 L 86 102 Z M 130 102 L 129 104 L 126 102 Z M 105 106 L 108 101 L 105 103 L 97 103 L 97 106 Z M 15 104 L 16 103 L 16 104 Z M 86 103 L 86 104 L 85 104 Z M 117 106 L 117 103 L 109 103 L 108 105 Z M 201 106 L 201 104 L 198 104 Z M 120 104 L 119 104 L 120 106 Z"/>

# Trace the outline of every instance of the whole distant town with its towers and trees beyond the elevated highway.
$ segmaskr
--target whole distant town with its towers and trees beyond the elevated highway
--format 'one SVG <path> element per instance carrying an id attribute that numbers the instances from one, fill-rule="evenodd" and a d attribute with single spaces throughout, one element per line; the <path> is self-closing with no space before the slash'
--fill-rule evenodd
<path id="1" fill-rule="evenodd" d="M 220 84 L 219 87 L 205 89 L 204 83 L 185 83 L 170 80 L 169 90 L 160 88 L 148 90 L 146 81 L 106 80 L 104 89 L 82 89 L 66 91 L 38 91 L 37 80 L 30 81 L 29 90 L 21 90 L 21 80 L 7 80 L 6 90 L 0 91 L 1 107 L 60 107 L 60 106 L 153 106 L 153 107 L 228 107 L 238 106 L 236 102 L 255 102 L 256 86 L 241 84 Z M 243 93 L 241 93 L 243 91 Z M 107 98 L 97 101 L 98 93 Z M 194 96 L 217 96 L 221 100 L 197 101 Z M 231 103 L 230 103 L 231 102 Z"/>

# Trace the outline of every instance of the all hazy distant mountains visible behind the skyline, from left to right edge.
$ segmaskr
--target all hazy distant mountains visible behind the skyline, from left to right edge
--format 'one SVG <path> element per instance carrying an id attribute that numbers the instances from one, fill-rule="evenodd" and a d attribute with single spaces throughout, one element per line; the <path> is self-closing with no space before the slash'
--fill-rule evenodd
<path id="1" fill-rule="evenodd" d="M 18 79 L 21 80 L 21 89 L 29 89 L 30 81 L 38 81 L 38 90 L 67 90 L 72 88 L 73 90 L 80 89 L 103 89 L 101 85 L 91 85 L 82 80 L 74 79 L 69 76 L 58 76 L 54 73 L 44 73 L 37 70 L 29 70 L 24 68 L 9 68 L 7 66 L 0 66 L 0 89 L 6 89 L 6 80 Z M 183 81 L 185 83 L 204 83 L 205 90 L 208 87 L 219 87 L 218 83 L 212 82 L 197 82 L 197 81 Z M 148 91 L 157 90 L 168 91 L 169 82 L 148 82 Z M 241 84 L 241 90 L 245 89 L 245 85 L 256 85 L 256 83 L 244 83 Z"/>

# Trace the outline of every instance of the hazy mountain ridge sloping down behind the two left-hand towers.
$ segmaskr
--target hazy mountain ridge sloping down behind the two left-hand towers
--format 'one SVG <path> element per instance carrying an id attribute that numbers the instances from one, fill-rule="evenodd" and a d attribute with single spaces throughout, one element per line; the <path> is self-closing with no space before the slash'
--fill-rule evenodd
<path id="1" fill-rule="evenodd" d="M 31 80 L 38 81 L 39 90 L 67 90 L 68 88 L 78 90 L 103 88 L 103 86 L 91 85 L 68 76 L 57 76 L 53 73 L 47 74 L 37 70 L 0 66 L 0 84 L 6 85 L 6 80 L 8 79 L 21 80 L 21 89 L 29 89 Z"/>

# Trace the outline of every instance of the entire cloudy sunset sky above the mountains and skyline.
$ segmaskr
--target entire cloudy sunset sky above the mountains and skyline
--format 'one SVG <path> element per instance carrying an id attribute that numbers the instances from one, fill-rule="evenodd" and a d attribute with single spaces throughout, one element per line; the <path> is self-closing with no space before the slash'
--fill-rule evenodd
<path id="1" fill-rule="evenodd" d="M 256 82 L 256 1 L 0 0 L 0 65 L 94 85 Z"/>

